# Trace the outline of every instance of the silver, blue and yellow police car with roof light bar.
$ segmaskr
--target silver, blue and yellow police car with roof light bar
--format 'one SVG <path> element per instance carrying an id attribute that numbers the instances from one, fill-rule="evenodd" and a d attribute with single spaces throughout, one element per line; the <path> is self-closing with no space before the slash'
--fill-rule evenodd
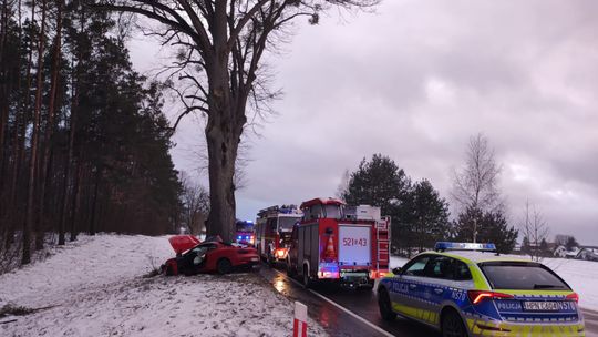
<path id="1" fill-rule="evenodd" d="M 396 315 L 443 336 L 585 336 L 579 297 L 548 267 L 494 244 L 436 243 L 380 280 L 382 318 Z"/>

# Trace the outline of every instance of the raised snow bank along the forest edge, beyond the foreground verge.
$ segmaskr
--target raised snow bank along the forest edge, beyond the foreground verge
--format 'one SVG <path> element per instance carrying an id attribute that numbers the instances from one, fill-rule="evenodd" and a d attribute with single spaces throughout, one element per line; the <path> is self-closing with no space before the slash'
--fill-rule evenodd
<path id="1" fill-rule="evenodd" d="M 130 235 L 83 236 L 41 263 L 0 275 L 0 306 L 55 305 L 69 292 L 122 283 L 148 273 L 172 255 L 164 238 Z M 164 242 L 164 243 L 162 243 Z"/>

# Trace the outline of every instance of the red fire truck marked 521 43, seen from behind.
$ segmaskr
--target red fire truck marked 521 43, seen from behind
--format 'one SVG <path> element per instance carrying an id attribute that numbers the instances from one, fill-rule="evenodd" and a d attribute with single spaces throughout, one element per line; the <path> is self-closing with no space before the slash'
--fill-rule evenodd
<path id="1" fill-rule="evenodd" d="M 379 207 L 313 198 L 300 208 L 303 218 L 293 228 L 287 257 L 289 276 L 301 276 L 306 287 L 332 280 L 355 288 L 372 287 L 389 273 L 390 217 L 382 217 Z"/>

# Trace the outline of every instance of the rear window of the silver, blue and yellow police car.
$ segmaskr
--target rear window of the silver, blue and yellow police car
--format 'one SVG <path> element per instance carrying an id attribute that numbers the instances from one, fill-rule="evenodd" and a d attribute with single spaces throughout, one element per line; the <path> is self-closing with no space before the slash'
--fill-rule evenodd
<path id="1" fill-rule="evenodd" d="M 537 263 L 487 262 L 478 265 L 494 289 L 570 289 L 560 277 Z"/>

